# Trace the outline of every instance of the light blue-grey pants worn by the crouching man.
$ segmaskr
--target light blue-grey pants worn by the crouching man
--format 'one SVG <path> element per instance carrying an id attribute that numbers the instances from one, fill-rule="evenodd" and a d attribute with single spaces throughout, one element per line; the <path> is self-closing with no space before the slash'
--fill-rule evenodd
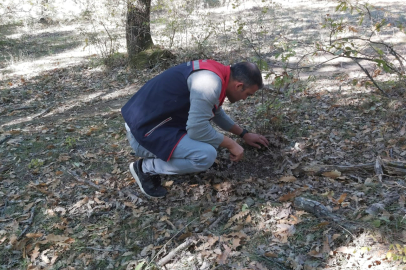
<path id="1" fill-rule="evenodd" d="M 163 161 L 142 147 L 125 124 L 127 139 L 135 155 L 144 158 L 142 170 L 151 174 L 185 174 L 207 170 L 217 157 L 216 149 L 207 143 L 195 141 L 186 134 L 178 143 L 169 161 Z"/>

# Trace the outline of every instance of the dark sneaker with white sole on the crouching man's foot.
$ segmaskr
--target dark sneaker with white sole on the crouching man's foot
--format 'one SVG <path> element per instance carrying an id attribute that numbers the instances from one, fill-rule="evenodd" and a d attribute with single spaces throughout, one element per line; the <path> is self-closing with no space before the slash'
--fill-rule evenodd
<path id="1" fill-rule="evenodd" d="M 161 185 L 159 175 L 152 175 L 142 171 L 142 159 L 130 164 L 130 172 L 141 191 L 150 198 L 163 198 L 168 191 Z"/>

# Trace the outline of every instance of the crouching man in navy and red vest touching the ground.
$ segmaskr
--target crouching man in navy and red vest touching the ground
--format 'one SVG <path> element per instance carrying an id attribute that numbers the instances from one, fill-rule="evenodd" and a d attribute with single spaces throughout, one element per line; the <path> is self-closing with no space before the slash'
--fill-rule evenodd
<path id="1" fill-rule="evenodd" d="M 130 164 L 141 191 L 164 197 L 160 174 L 205 171 L 213 165 L 218 147 L 228 149 L 230 160 L 242 159 L 244 149 L 217 132 L 210 120 L 248 145 L 268 146 L 264 136 L 241 128 L 221 108 L 225 97 L 231 103 L 245 100 L 262 86 L 255 64 L 230 67 L 213 60 L 190 61 L 148 81 L 121 109 L 130 145 L 142 157 Z"/>

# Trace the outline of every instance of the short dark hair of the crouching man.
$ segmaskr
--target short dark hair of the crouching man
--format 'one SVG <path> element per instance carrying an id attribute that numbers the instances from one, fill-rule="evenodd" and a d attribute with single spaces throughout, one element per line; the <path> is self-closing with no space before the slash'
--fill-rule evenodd
<path id="1" fill-rule="evenodd" d="M 240 62 L 232 65 L 230 69 L 233 80 L 242 82 L 244 86 L 251 87 L 257 85 L 258 89 L 264 86 L 261 71 L 254 63 Z"/>

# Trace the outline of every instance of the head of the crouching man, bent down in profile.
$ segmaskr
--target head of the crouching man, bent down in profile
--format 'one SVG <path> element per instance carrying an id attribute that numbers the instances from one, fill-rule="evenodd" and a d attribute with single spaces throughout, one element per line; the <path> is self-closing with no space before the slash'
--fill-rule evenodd
<path id="1" fill-rule="evenodd" d="M 230 81 L 226 95 L 231 103 L 245 100 L 263 87 L 261 71 L 249 62 L 240 62 L 230 67 Z"/>

